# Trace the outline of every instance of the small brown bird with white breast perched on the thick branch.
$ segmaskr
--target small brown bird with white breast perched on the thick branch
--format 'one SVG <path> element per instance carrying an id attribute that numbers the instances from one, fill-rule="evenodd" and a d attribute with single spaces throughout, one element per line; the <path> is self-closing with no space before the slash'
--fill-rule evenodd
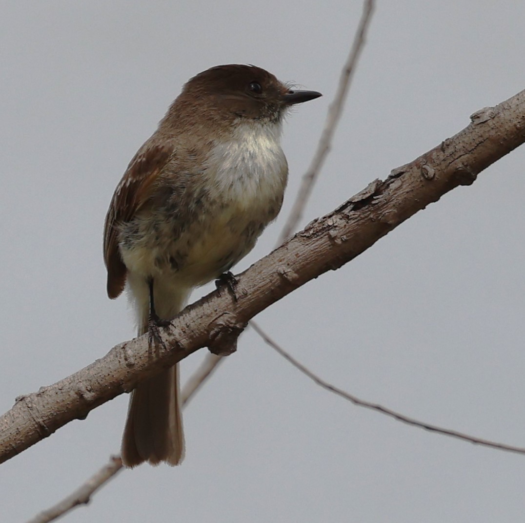
<path id="1" fill-rule="evenodd" d="M 106 216 L 108 295 L 127 287 L 139 335 L 232 268 L 276 218 L 288 176 L 283 116 L 319 96 L 247 65 L 212 67 L 185 84 L 131 160 Z M 177 465 L 183 457 L 175 365 L 132 392 L 122 462 Z"/>

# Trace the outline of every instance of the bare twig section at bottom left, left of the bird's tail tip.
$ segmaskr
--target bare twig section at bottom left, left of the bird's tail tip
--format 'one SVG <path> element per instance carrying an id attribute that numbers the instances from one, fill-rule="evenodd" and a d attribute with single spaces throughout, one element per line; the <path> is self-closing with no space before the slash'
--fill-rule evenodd
<path id="1" fill-rule="evenodd" d="M 48 523 L 63 516 L 72 508 L 89 503 L 95 491 L 114 477 L 119 470 L 122 470 L 122 460 L 120 456 L 112 456 L 109 463 L 104 465 L 95 475 L 91 476 L 86 483 L 83 483 L 74 493 L 62 499 L 60 503 L 57 503 L 53 507 L 40 512 L 40 514 L 28 521 L 28 523 Z"/>

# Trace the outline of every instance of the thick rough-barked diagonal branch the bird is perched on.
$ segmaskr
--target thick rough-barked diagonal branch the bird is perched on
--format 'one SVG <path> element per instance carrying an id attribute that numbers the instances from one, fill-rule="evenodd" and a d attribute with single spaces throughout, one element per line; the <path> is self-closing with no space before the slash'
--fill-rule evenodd
<path id="1" fill-rule="evenodd" d="M 124 342 L 54 385 L 17 398 L 0 418 L 0 463 L 53 434 L 72 419 L 129 392 L 139 380 L 173 365 L 247 321 L 300 285 L 338 269 L 404 220 L 525 141 L 525 91 L 471 117 L 453 138 L 395 169 L 341 207 L 310 223 L 280 248 L 237 276 L 237 300 L 222 289 L 176 317 L 165 347 L 148 351 L 148 336 Z"/>

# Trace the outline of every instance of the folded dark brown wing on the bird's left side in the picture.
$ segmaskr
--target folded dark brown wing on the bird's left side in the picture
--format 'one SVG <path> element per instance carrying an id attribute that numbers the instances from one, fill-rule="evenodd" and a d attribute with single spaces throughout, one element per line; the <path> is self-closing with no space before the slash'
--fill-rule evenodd
<path id="1" fill-rule="evenodd" d="M 119 251 L 119 226 L 133 218 L 148 200 L 153 183 L 173 153 L 172 147 L 148 146 L 131 160 L 113 198 L 104 224 L 104 262 L 108 269 L 108 296 L 117 298 L 124 289 L 127 268 Z"/>

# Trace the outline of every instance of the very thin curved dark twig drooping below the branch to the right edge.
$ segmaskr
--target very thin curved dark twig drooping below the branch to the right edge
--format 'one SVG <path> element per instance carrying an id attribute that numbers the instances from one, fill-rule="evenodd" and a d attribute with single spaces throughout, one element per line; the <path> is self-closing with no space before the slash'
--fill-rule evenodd
<path id="1" fill-rule="evenodd" d="M 265 341 L 265 343 L 270 345 L 270 347 L 274 348 L 283 358 L 288 360 L 294 367 L 296 367 L 304 375 L 308 376 L 310 380 L 313 380 L 319 386 L 326 389 L 327 391 L 333 392 L 334 394 L 337 394 L 338 396 L 341 396 L 344 399 L 348 399 L 348 401 L 352 402 L 354 405 L 357 405 L 358 407 L 370 408 L 373 411 L 380 412 L 381 414 L 385 414 L 386 416 L 390 416 L 396 419 L 397 421 L 406 423 L 408 425 L 413 425 L 415 427 L 424 428 L 425 430 L 430 430 L 431 432 L 436 432 L 438 434 L 443 434 L 445 436 L 463 439 L 470 443 L 475 443 L 477 445 L 484 445 L 486 447 L 491 447 L 491 448 L 497 448 L 499 450 L 507 450 L 508 452 L 515 452 L 517 454 L 525 454 L 524 447 L 514 447 L 513 445 L 507 445 L 505 443 L 497 443 L 497 442 L 490 441 L 489 439 L 482 439 L 482 438 L 478 438 L 477 436 L 470 436 L 468 434 L 463 434 L 461 432 L 457 432 L 457 430 L 450 430 L 448 428 L 438 427 L 437 425 L 431 425 L 429 423 L 419 421 L 418 419 L 410 418 L 408 416 L 405 416 L 404 414 L 400 414 L 398 412 L 392 411 L 390 408 L 383 407 L 382 405 L 379 405 L 377 403 L 371 403 L 371 402 L 365 401 L 364 399 L 359 399 L 358 397 L 352 394 L 349 394 L 348 392 L 344 392 L 339 387 L 335 387 L 334 385 L 331 385 L 330 383 L 325 382 L 319 376 L 317 376 L 317 374 L 314 374 L 307 367 L 299 363 L 295 358 L 290 356 L 290 354 L 288 354 L 281 346 L 279 346 L 275 341 L 273 341 L 264 331 L 262 331 L 262 329 L 253 320 L 250 321 L 250 326 L 252 327 L 252 329 L 255 330 L 255 332 L 257 332 L 257 334 L 259 334 L 259 336 Z"/>

